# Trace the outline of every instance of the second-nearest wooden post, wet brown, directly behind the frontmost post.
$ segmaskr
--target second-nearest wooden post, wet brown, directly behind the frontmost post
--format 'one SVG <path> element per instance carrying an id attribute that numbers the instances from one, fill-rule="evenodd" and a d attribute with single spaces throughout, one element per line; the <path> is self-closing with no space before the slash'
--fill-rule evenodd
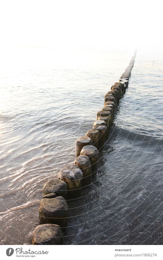
<path id="1" fill-rule="evenodd" d="M 57 224 L 65 231 L 68 225 L 68 205 L 61 196 L 42 199 L 39 205 L 39 224 Z"/>

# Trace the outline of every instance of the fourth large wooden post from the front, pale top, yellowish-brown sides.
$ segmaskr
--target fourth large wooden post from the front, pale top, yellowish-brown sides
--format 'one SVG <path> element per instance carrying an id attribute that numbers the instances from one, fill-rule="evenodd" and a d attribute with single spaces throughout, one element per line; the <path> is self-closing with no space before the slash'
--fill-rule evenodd
<path id="1" fill-rule="evenodd" d="M 83 172 L 80 170 L 78 165 L 70 164 L 61 168 L 58 173 L 58 179 L 67 184 L 68 199 L 78 198 L 81 196 Z"/>

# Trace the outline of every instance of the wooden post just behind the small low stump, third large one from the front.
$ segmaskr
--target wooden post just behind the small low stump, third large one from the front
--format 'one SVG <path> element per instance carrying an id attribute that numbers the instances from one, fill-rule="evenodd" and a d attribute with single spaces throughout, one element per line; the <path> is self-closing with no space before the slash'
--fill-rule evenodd
<path id="1" fill-rule="evenodd" d="M 59 179 L 50 179 L 47 181 L 43 187 L 43 196 L 51 194 L 56 194 L 57 196 L 62 196 L 63 198 L 67 198 L 67 185 L 64 181 L 61 181 Z M 47 197 L 47 196 L 46 196 Z M 54 197 L 54 198 L 55 198 Z"/>

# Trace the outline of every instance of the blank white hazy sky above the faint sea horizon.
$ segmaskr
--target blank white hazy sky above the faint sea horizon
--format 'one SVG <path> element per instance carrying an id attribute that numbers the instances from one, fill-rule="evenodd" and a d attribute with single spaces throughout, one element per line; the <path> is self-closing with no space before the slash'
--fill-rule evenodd
<path id="1" fill-rule="evenodd" d="M 161 1 L 3 0 L 4 46 L 160 48 Z"/>

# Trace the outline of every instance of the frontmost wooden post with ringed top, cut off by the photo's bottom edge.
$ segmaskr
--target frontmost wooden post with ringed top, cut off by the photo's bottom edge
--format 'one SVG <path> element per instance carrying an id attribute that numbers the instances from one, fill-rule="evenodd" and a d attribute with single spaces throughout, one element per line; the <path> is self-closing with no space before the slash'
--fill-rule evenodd
<path id="1" fill-rule="evenodd" d="M 43 224 L 35 228 L 32 245 L 62 245 L 61 227 L 55 224 Z"/>

